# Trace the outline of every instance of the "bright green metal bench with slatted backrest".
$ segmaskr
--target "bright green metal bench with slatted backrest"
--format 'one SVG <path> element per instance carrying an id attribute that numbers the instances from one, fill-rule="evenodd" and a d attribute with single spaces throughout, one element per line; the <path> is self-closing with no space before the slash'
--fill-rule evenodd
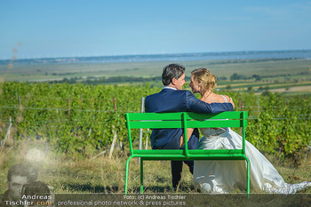
<path id="1" fill-rule="evenodd" d="M 247 194 L 250 195 L 250 162 L 245 155 L 246 111 L 227 111 L 219 114 L 178 113 L 126 113 L 124 115 L 128 129 L 131 156 L 125 166 L 125 195 L 127 194 L 129 163 L 132 157 L 140 157 L 140 193 L 143 193 L 143 162 L 145 160 L 246 160 Z M 133 149 L 132 129 L 242 127 L 242 149 Z"/>

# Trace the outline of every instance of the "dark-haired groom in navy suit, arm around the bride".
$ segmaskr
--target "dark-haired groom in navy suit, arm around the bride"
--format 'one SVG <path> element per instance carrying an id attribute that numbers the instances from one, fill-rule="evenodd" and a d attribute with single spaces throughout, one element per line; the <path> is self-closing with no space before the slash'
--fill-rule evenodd
<path id="1" fill-rule="evenodd" d="M 163 68 L 162 81 L 163 90 L 156 94 L 146 97 L 146 112 L 183 112 L 192 111 L 195 113 L 219 113 L 223 111 L 233 111 L 231 103 L 205 103 L 195 98 L 192 92 L 182 90 L 185 82 L 185 70 L 179 64 L 170 64 Z M 232 100 L 231 100 L 232 101 Z M 154 129 L 150 136 L 151 147 L 153 149 L 182 149 L 180 147 L 180 138 L 183 135 L 183 129 Z M 195 129 L 190 139 L 188 139 L 188 149 L 196 149 L 198 147 L 199 131 Z M 184 161 L 191 173 L 193 173 L 194 162 Z M 171 179 L 172 186 L 176 190 L 181 179 L 182 162 L 171 161 Z"/>

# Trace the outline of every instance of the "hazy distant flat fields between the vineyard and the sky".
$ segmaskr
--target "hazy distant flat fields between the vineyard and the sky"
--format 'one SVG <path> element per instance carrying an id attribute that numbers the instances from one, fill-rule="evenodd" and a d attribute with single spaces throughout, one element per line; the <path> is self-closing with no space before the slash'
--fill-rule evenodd
<path id="1" fill-rule="evenodd" d="M 97 80 L 112 76 L 155 77 L 161 76 L 163 66 L 173 61 L 123 62 L 123 63 L 62 63 L 62 64 L 25 64 L 0 65 L 0 76 L 5 81 L 47 82 L 61 81 L 64 78 L 77 78 L 77 82 Z M 254 90 L 268 87 L 272 92 L 310 92 L 311 60 L 197 60 L 179 62 L 186 68 L 187 82 L 195 68 L 209 68 L 219 78 L 219 89 Z M 231 81 L 234 74 L 245 76 L 246 80 Z M 256 81 L 252 76 L 261 76 Z M 227 80 L 226 80 L 227 79 Z M 226 81 L 224 81 L 226 80 Z M 161 86 L 158 81 L 148 81 L 150 85 Z M 109 84 L 146 84 L 124 82 Z"/>

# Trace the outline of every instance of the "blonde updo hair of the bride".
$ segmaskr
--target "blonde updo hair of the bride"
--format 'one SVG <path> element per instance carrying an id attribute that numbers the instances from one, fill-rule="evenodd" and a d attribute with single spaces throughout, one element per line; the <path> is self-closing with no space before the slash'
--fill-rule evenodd
<path id="1" fill-rule="evenodd" d="M 206 92 L 212 92 L 217 85 L 216 76 L 211 74 L 211 71 L 206 68 L 198 68 L 191 72 L 196 84 L 201 84 L 201 87 Z"/>

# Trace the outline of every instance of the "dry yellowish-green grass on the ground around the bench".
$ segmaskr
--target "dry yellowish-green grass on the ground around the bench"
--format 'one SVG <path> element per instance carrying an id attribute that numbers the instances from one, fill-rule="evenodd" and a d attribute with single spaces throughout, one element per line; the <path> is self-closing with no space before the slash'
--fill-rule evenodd
<path id="1" fill-rule="evenodd" d="M 6 174 L 14 163 L 27 162 L 29 149 L 35 148 L 44 153 L 44 161 L 39 165 L 38 180 L 54 187 L 55 193 L 123 193 L 124 169 L 128 151 L 117 151 L 112 158 L 108 155 L 74 160 L 52 151 L 42 140 L 23 140 L 14 147 L 3 150 L 0 159 L 0 194 L 6 187 Z M 108 150 L 107 150 L 108 151 Z M 311 181 L 311 155 L 298 160 L 287 158 L 280 160 L 277 155 L 266 155 L 283 176 L 285 182 L 299 183 Z M 37 157 L 36 157 L 37 158 Z M 32 161 L 34 162 L 34 160 Z M 137 159 L 130 163 L 129 192 L 140 192 L 140 164 Z M 144 163 L 144 186 L 146 193 L 171 193 L 171 164 L 169 161 L 148 161 Z M 179 193 L 197 193 L 193 177 L 184 165 Z M 236 193 L 239 193 L 236 190 Z M 251 189 L 251 193 L 256 192 Z M 311 188 L 302 193 L 311 194 Z"/>

